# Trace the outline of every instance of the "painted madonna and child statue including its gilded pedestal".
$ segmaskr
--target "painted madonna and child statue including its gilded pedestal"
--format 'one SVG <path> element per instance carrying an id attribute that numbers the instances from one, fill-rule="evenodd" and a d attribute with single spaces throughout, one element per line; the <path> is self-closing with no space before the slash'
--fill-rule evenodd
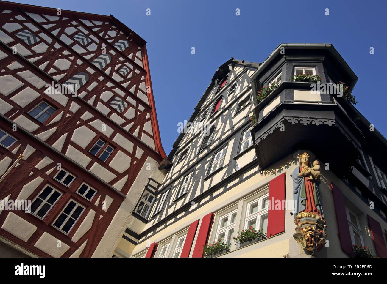
<path id="1" fill-rule="evenodd" d="M 293 171 L 293 199 L 296 233 L 300 247 L 319 251 L 325 243 L 326 222 L 319 192 L 320 162 L 310 160 L 308 153 L 300 155 L 300 164 Z"/>

